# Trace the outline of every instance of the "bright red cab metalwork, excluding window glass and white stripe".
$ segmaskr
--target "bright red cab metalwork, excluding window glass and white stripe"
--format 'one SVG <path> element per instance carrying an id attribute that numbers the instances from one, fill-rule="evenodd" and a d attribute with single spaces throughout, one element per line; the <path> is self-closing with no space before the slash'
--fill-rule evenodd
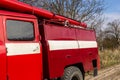
<path id="1" fill-rule="evenodd" d="M 8 14 L 8 15 L 7 15 Z M 15 16 L 16 15 L 16 16 Z M 35 16 L 0 11 L 0 80 L 42 80 L 42 51 L 35 54 L 21 54 L 8 56 L 6 52 L 6 43 L 40 43 L 38 23 Z M 26 17 L 23 17 L 26 16 Z M 30 16 L 28 18 L 28 16 Z M 33 41 L 9 41 L 6 33 L 6 20 L 22 20 L 34 23 L 35 40 Z M 3 24 L 4 23 L 4 24 Z M 2 29 L 3 28 L 3 29 Z M 4 32 L 4 34 L 3 34 Z M 4 39 L 4 40 L 3 40 Z M 40 45 L 41 47 L 41 45 Z M 41 48 L 40 48 L 41 50 Z M 14 54 L 14 53 L 13 53 Z"/>

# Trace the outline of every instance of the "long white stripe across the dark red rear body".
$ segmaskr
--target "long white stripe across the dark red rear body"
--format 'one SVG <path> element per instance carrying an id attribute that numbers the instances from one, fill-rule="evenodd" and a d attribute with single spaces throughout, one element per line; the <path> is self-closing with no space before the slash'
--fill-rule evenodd
<path id="1" fill-rule="evenodd" d="M 96 41 L 57 41 L 49 40 L 50 50 L 97 48 Z"/>

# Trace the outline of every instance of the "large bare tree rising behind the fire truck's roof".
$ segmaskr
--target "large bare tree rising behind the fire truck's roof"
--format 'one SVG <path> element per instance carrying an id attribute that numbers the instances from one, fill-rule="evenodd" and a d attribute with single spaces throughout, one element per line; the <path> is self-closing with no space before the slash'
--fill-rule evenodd
<path id="1" fill-rule="evenodd" d="M 42 7 L 55 14 L 98 26 L 104 10 L 104 0 L 20 0 Z"/>

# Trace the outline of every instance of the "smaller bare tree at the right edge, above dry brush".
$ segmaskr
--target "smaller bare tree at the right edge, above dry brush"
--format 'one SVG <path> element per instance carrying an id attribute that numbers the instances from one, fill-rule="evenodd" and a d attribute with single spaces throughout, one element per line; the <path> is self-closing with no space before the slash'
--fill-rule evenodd
<path id="1" fill-rule="evenodd" d="M 111 44 L 115 44 L 115 47 L 118 47 L 120 45 L 120 20 L 116 19 L 112 22 L 109 22 L 105 33 L 106 37 L 114 40 L 111 42 Z"/>

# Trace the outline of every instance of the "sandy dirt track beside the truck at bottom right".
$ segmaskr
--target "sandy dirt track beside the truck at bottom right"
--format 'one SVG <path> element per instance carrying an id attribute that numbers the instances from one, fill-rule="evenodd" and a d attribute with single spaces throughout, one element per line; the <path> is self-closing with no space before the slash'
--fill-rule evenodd
<path id="1" fill-rule="evenodd" d="M 98 76 L 85 76 L 85 80 L 120 80 L 120 64 L 98 71 Z"/>

